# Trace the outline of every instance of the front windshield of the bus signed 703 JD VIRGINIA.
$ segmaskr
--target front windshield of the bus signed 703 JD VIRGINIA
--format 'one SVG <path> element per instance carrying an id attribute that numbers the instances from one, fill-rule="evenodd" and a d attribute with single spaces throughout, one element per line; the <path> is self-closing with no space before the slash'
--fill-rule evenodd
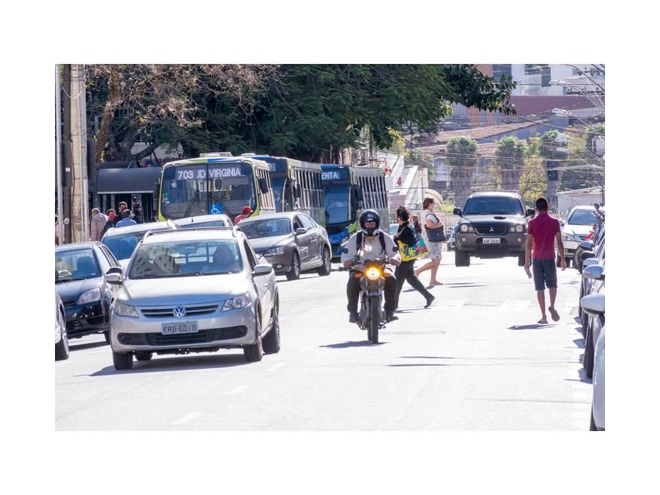
<path id="1" fill-rule="evenodd" d="M 161 212 L 166 219 L 224 213 L 234 219 L 243 206 L 256 208 L 252 170 L 246 164 L 178 165 L 163 172 Z M 215 179 L 221 181 L 217 188 Z"/>

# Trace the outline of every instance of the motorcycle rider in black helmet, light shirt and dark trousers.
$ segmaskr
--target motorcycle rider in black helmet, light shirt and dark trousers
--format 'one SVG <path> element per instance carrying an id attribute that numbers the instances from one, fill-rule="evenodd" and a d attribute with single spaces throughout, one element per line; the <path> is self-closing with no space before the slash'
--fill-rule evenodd
<path id="1" fill-rule="evenodd" d="M 345 267 L 364 268 L 364 261 L 384 261 L 386 257 L 390 258 L 390 263 L 393 265 L 399 264 L 401 258 L 397 245 L 390 234 L 380 230 L 380 215 L 375 210 L 364 210 L 360 214 L 360 229 L 351 236 L 351 239 L 345 245 L 348 250 L 348 252 L 342 253 L 342 263 Z M 362 245 L 358 245 L 358 240 Z M 349 281 L 346 285 L 347 309 L 349 310 L 349 322 L 351 323 L 358 322 L 360 279 L 355 278 L 355 274 L 358 272 L 354 268 L 349 270 Z M 394 315 L 396 304 L 397 281 L 394 276 L 387 277 L 385 278 L 385 315 L 387 321 L 399 319 Z"/>

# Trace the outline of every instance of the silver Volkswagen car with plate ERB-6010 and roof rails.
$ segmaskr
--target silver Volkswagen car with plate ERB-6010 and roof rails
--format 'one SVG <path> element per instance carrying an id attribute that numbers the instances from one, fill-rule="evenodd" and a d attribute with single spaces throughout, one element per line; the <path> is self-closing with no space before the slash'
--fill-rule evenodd
<path id="1" fill-rule="evenodd" d="M 106 278 L 115 369 L 131 368 L 133 355 L 242 348 L 252 362 L 280 349 L 273 268 L 235 228 L 150 232 L 126 272 Z"/>

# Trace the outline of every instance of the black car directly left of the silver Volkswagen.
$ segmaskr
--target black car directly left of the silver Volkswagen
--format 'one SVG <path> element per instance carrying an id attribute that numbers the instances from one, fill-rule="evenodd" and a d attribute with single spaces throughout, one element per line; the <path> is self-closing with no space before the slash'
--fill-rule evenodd
<path id="1" fill-rule="evenodd" d="M 69 339 L 104 333 L 109 342 L 112 289 L 104 274 L 119 266 L 98 241 L 56 246 L 55 291 L 64 304 Z"/>

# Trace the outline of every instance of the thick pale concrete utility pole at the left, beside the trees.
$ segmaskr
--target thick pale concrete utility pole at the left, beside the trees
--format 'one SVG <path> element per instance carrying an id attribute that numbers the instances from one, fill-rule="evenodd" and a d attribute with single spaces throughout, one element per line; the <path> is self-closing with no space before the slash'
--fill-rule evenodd
<path id="1" fill-rule="evenodd" d="M 74 173 L 72 223 L 74 241 L 89 240 L 89 195 L 87 193 L 87 104 L 85 66 L 71 66 L 71 155 Z"/>

